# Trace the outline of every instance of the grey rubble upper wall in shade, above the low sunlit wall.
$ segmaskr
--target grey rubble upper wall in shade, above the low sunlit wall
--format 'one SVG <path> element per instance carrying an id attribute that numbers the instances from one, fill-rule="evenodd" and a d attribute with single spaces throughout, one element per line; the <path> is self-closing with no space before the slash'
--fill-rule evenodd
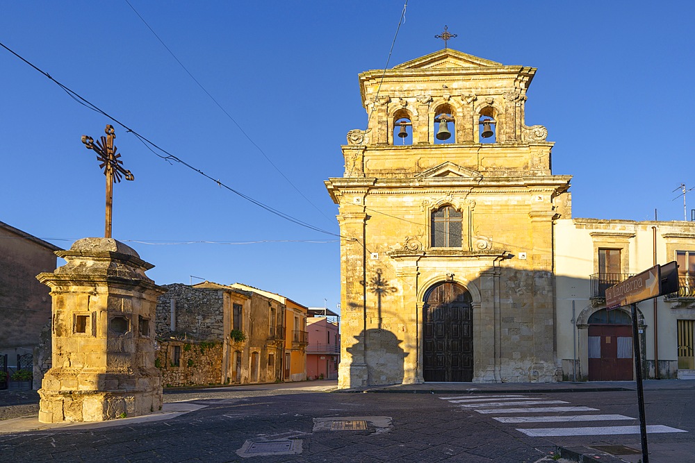
<path id="1" fill-rule="evenodd" d="M 167 339 L 173 335 L 221 341 L 229 334 L 224 332 L 224 291 L 197 289 L 182 283 L 162 287 L 167 292 L 157 300 L 158 337 Z"/>

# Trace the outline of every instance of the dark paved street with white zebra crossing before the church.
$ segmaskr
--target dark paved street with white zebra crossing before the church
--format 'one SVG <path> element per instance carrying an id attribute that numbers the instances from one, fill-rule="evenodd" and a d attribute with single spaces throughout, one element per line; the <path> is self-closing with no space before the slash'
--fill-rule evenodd
<path id="1" fill-rule="evenodd" d="M 329 392 L 334 384 L 168 392 L 169 412 L 158 419 L 106 426 L 41 426 L 30 394 L 17 400 L 0 392 L 0 416 L 25 415 L 0 421 L 0 461 L 535 463 L 553 461 L 558 446 L 594 461 L 641 457 L 636 395 L 625 385 L 463 383 Z M 651 463 L 695 462 L 694 394 L 684 382 L 647 388 L 647 423 L 655 426 L 648 437 Z"/>

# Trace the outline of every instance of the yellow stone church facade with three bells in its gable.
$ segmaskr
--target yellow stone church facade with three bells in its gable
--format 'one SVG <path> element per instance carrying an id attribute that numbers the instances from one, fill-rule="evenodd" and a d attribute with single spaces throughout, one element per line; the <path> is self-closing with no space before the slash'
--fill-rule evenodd
<path id="1" fill-rule="evenodd" d="M 367 129 L 326 182 L 341 387 L 560 378 L 553 221 L 571 217 L 571 177 L 525 124 L 535 72 L 444 49 L 359 75 Z"/>

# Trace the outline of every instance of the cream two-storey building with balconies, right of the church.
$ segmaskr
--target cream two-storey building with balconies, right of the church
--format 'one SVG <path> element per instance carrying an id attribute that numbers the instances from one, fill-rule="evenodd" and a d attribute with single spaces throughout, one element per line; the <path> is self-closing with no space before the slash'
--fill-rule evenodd
<path id="1" fill-rule="evenodd" d="M 605 289 L 671 261 L 679 266 L 678 294 L 637 304 L 643 376 L 695 379 L 695 223 L 556 221 L 557 358 L 564 379 L 634 378 L 630 308 L 606 310 Z"/>

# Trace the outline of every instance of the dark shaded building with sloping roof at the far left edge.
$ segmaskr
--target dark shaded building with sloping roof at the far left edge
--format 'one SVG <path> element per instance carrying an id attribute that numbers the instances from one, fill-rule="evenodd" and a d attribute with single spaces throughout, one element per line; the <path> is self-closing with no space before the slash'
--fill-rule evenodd
<path id="1" fill-rule="evenodd" d="M 42 329 L 51 322 L 49 288 L 36 276 L 56 269 L 54 253 L 60 250 L 0 222 L 0 372 L 5 368 L 33 370 L 34 389 L 41 386 L 51 358 L 50 352 L 33 355 Z"/>

